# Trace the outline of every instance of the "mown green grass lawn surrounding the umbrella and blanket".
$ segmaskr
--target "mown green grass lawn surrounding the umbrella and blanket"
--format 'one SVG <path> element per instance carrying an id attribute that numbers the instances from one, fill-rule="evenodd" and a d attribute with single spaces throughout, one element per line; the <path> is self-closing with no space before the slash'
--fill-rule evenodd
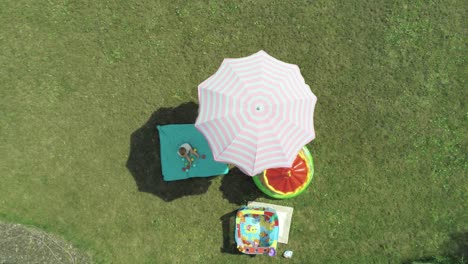
<path id="1" fill-rule="evenodd" d="M 290 263 L 456 260 L 466 21 L 461 0 L 3 1 L 0 220 L 98 263 L 283 262 L 234 254 L 229 216 L 257 200 L 294 207 Z M 272 201 L 238 171 L 162 182 L 154 126 L 194 122 L 197 85 L 260 49 L 318 97 L 311 187 Z"/>

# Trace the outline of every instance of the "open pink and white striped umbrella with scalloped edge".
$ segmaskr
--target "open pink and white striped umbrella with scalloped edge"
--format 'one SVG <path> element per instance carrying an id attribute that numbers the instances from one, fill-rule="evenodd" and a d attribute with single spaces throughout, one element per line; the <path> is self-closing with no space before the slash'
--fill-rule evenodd
<path id="1" fill-rule="evenodd" d="M 198 86 L 195 127 L 215 160 L 253 176 L 290 167 L 300 149 L 315 138 L 317 97 L 299 67 L 261 50 L 221 67 Z"/>

